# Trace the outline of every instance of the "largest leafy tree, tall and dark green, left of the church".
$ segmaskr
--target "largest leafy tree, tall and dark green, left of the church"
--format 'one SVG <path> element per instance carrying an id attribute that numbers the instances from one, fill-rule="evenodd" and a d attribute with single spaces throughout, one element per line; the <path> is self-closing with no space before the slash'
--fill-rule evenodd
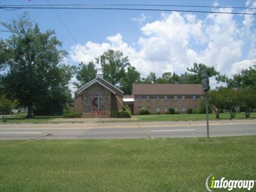
<path id="1" fill-rule="evenodd" d="M 1 83 L 8 95 L 28 107 L 27 117 L 32 117 L 33 106 L 49 97 L 54 85 L 59 84 L 60 78 L 55 74 L 61 71 L 59 63 L 67 52 L 59 49 L 62 43 L 54 36 L 54 30 L 42 33 L 37 23 L 29 20 L 27 13 L 18 20 L 1 24 L 11 34 L 0 42 L 0 65 L 8 66 Z"/>

